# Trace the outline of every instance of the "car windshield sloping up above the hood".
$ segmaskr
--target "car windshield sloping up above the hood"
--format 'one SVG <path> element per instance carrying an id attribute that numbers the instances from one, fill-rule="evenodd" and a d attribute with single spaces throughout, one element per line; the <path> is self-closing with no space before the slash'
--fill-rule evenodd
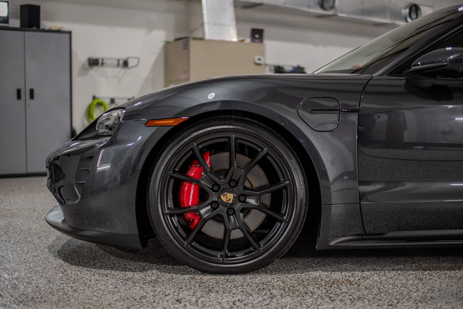
<path id="1" fill-rule="evenodd" d="M 313 73 L 362 73 L 370 66 L 390 62 L 411 45 L 454 19 L 461 11 L 463 7 L 452 6 L 415 19 L 363 44 Z"/>

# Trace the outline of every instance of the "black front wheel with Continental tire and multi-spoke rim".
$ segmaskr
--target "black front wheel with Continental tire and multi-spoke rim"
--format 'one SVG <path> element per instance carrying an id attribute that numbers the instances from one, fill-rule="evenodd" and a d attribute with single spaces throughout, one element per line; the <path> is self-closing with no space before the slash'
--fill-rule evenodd
<path id="1" fill-rule="evenodd" d="M 225 141 L 222 136 L 230 138 Z M 198 185 L 201 190 L 207 191 L 207 200 L 197 209 L 190 210 L 197 210 L 196 214 L 201 216 L 200 223 L 191 228 L 188 227 L 188 223 L 187 226 L 182 223 L 182 214 L 171 214 L 174 211 L 185 212 L 185 208 L 178 207 L 178 204 L 175 206 L 178 194 L 175 190 L 179 188 L 177 181 L 185 180 L 183 166 L 188 164 L 191 158 L 200 161 L 200 164 L 202 162 L 201 167 L 206 164 L 198 158 L 208 147 L 212 150 L 207 151 L 212 152 L 228 147 L 226 149 L 230 162 L 227 171 L 221 176 L 208 171 L 207 167 L 204 168 L 206 175 L 201 178 L 201 182 L 198 181 Z M 219 150 L 214 150 L 214 147 Z M 244 184 L 249 170 L 246 170 L 246 167 L 238 167 L 236 161 L 232 161 L 235 160 L 232 158 L 237 158 L 238 152 L 244 152 L 250 159 L 254 159 L 250 162 L 255 163 L 248 163 L 251 165 L 250 170 L 259 168 L 266 171 L 269 186 L 255 189 Z M 254 153 L 257 155 L 253 158 L 251 154 Z M 236 167 L 232 168 L 235 165 Z M 233 178 L 240 179 L 237 180 L 239 185 L 236 187 L 229 185 L 230 179 Z M 270 184 L 272 179 L 274 183 Z M 224 181 L 229 183 L 225 184 Z M 225 193 L 213 191 L 211 184 L 214 182 L 220 184 L 220 190 L 223 189 Z M 219 199 L 221 193 L 227 197 L 227 201 L 230 200 L 228 197 L 231 197 L 231 206 L 227 206 L 229 204 L 226 204 L 224 198 Z M 245 196 L 243 203 L 238 201 L 239 198 L 244 199 L 242 195 Z M 265 195 L 271 196 L 270 205 L 262 204 L 262 197 Z M 219 203 L 213 203 L 215 201 Z M 216 204 L 218 206 L 214 208 Z M 251 272 L 281 257 L 296 240 L 307 214 L 307 181 L 294 150 L 274 130 L 244 117 L 211 117 L 181 130 L 159 152 L 150 173 L 147 206 L 151 224 L 159 241 L 181 262 L 202 272 Z M 226 212 L 233 212 L 230 210 L 233 207 L 236 208 L 235 213 L 225 216 Z M 247 226 L 248 223 L 245 223 L 244 217 L 254 208 L 266 214 L 262 225 L 265 228 L 262 228 L 262 231 L 256 229 L 252 232 Z M 203 235 L 200 227 L 204 227 L 208 220 L 218 220 L 224 226 L 221 240 Z M 243 237 L 238 240 L 230 238 L 233 227 L 238 229 Z"/>

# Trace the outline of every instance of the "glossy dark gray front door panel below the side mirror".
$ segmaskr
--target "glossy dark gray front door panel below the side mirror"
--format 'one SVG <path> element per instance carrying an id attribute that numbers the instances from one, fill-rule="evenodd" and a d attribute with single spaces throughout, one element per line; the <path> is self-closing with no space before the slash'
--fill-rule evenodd
<path id="1" fill-rule="evenodd" d="M 463 83 L 429 88 L 377 76 L 358 116 L 358 177 L 367 235 L 463 228 Z"/>

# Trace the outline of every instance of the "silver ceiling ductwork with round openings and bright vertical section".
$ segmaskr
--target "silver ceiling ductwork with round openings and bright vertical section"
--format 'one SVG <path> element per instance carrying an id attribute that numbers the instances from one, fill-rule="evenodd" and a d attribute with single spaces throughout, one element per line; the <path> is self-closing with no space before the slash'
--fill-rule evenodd
<path id="1" fill-rule="evenodd" d="M 416 3 L 419 1 L 421 3 Z M 189 2 L 190 35 L 237 41 L 233 3 L 244 9 L 288 10 L 319 17 L 402 25 L 434 10 L 422 1 L 425 0 L 193 0 Z"/>

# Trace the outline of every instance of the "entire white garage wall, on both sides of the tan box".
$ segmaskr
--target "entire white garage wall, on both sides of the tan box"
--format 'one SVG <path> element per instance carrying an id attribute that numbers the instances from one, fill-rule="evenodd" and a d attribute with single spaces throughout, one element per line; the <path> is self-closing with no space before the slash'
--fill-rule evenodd
<path id="1" fill-rule="evenodd" d="M 436 6 L 457 2 L 437 0 Z M 85 111 L 94 94 L 131 97 L 162 88 L 163 41 L 188 36 L 187 0 L 10 0 L 11 26 L 19 26 L 19 5 L 25 3 L 41 6 L 42 27 L 72 31 L 77 131 L 87 125 Z M 265 29 L 267 63 L 300 64 L 307 72 L 392 29 L 258 10 L 237 9 L 236 18 L 238 37 L 249 38 L 250 28 Z M 139 56 L 141 62 L 129 70 L 90 69 L 88 56 Z"/>

